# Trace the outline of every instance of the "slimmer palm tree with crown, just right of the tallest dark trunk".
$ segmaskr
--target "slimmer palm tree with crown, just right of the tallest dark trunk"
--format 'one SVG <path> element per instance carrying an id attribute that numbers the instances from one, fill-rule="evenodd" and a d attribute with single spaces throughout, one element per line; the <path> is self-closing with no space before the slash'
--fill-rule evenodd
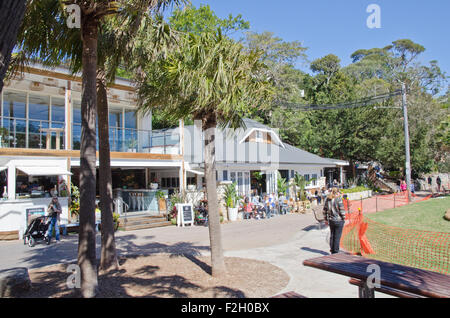
<path id="1" fill-rule="evenodd" d="M 164 28 L 160 18 L 152 19 L 150 13 L 159 12 L 170 3 L 179 0 L 131 1 L 122 10 L 106 19 L 102 24 L 100 38 L 101 55 L 97 69 L 98 134 L 99 134 L 99 193 L 102 211 L 102 250 L 100 269 L 117 269 L 114 224 L 113 190 L 109 145 L 109 110 L 107 84 L 114 82 L 117 70 L 125 63 L 123 59 L 133 54 L 134 42 L 139 39 L 151 49 L 153 54 L 164 50 L 167 41 L 173 40 L 170 31 Z M 161 30 L 162 29 L 162 30 Z M 144 34 L 144 39 L 142 38 Z M 169 34 L 169 35 L 168 35 Z M 151 58 L 147 55 L 147 58 Z M 104 225 L 104 226 L 103 226 Z"/>

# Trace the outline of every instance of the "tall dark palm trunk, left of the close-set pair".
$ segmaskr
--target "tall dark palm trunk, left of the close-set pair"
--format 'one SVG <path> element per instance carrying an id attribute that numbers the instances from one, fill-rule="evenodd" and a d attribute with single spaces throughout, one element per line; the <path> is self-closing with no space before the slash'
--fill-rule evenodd
<path id="1" fill-rule="evenodd" d="M 78 265 L 81 270 L 83 297 L 97 293 L 97 260 L 95 255 L 96 131 L 97 114 L 97 37 L 98 20 L 82 17 L 83 76 L 81 98 L 80 148 L 80 233 Z"/>

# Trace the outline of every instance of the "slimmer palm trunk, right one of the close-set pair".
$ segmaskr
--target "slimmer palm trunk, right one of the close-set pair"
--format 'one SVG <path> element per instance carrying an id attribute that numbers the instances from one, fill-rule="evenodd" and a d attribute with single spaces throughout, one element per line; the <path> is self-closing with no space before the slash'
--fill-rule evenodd
<path id="1" fill-rule="evenodd" d="M 113 190 L 111 177 L 111 158 L 109 148 L 108 97 L 106 93 L 106 74 L 97 71 L 97 114 L 99 139 L 99 192 L 102 211 L 102 250 L 100 269 L 103 271 L 119 268 L 114 239 Z"/>

